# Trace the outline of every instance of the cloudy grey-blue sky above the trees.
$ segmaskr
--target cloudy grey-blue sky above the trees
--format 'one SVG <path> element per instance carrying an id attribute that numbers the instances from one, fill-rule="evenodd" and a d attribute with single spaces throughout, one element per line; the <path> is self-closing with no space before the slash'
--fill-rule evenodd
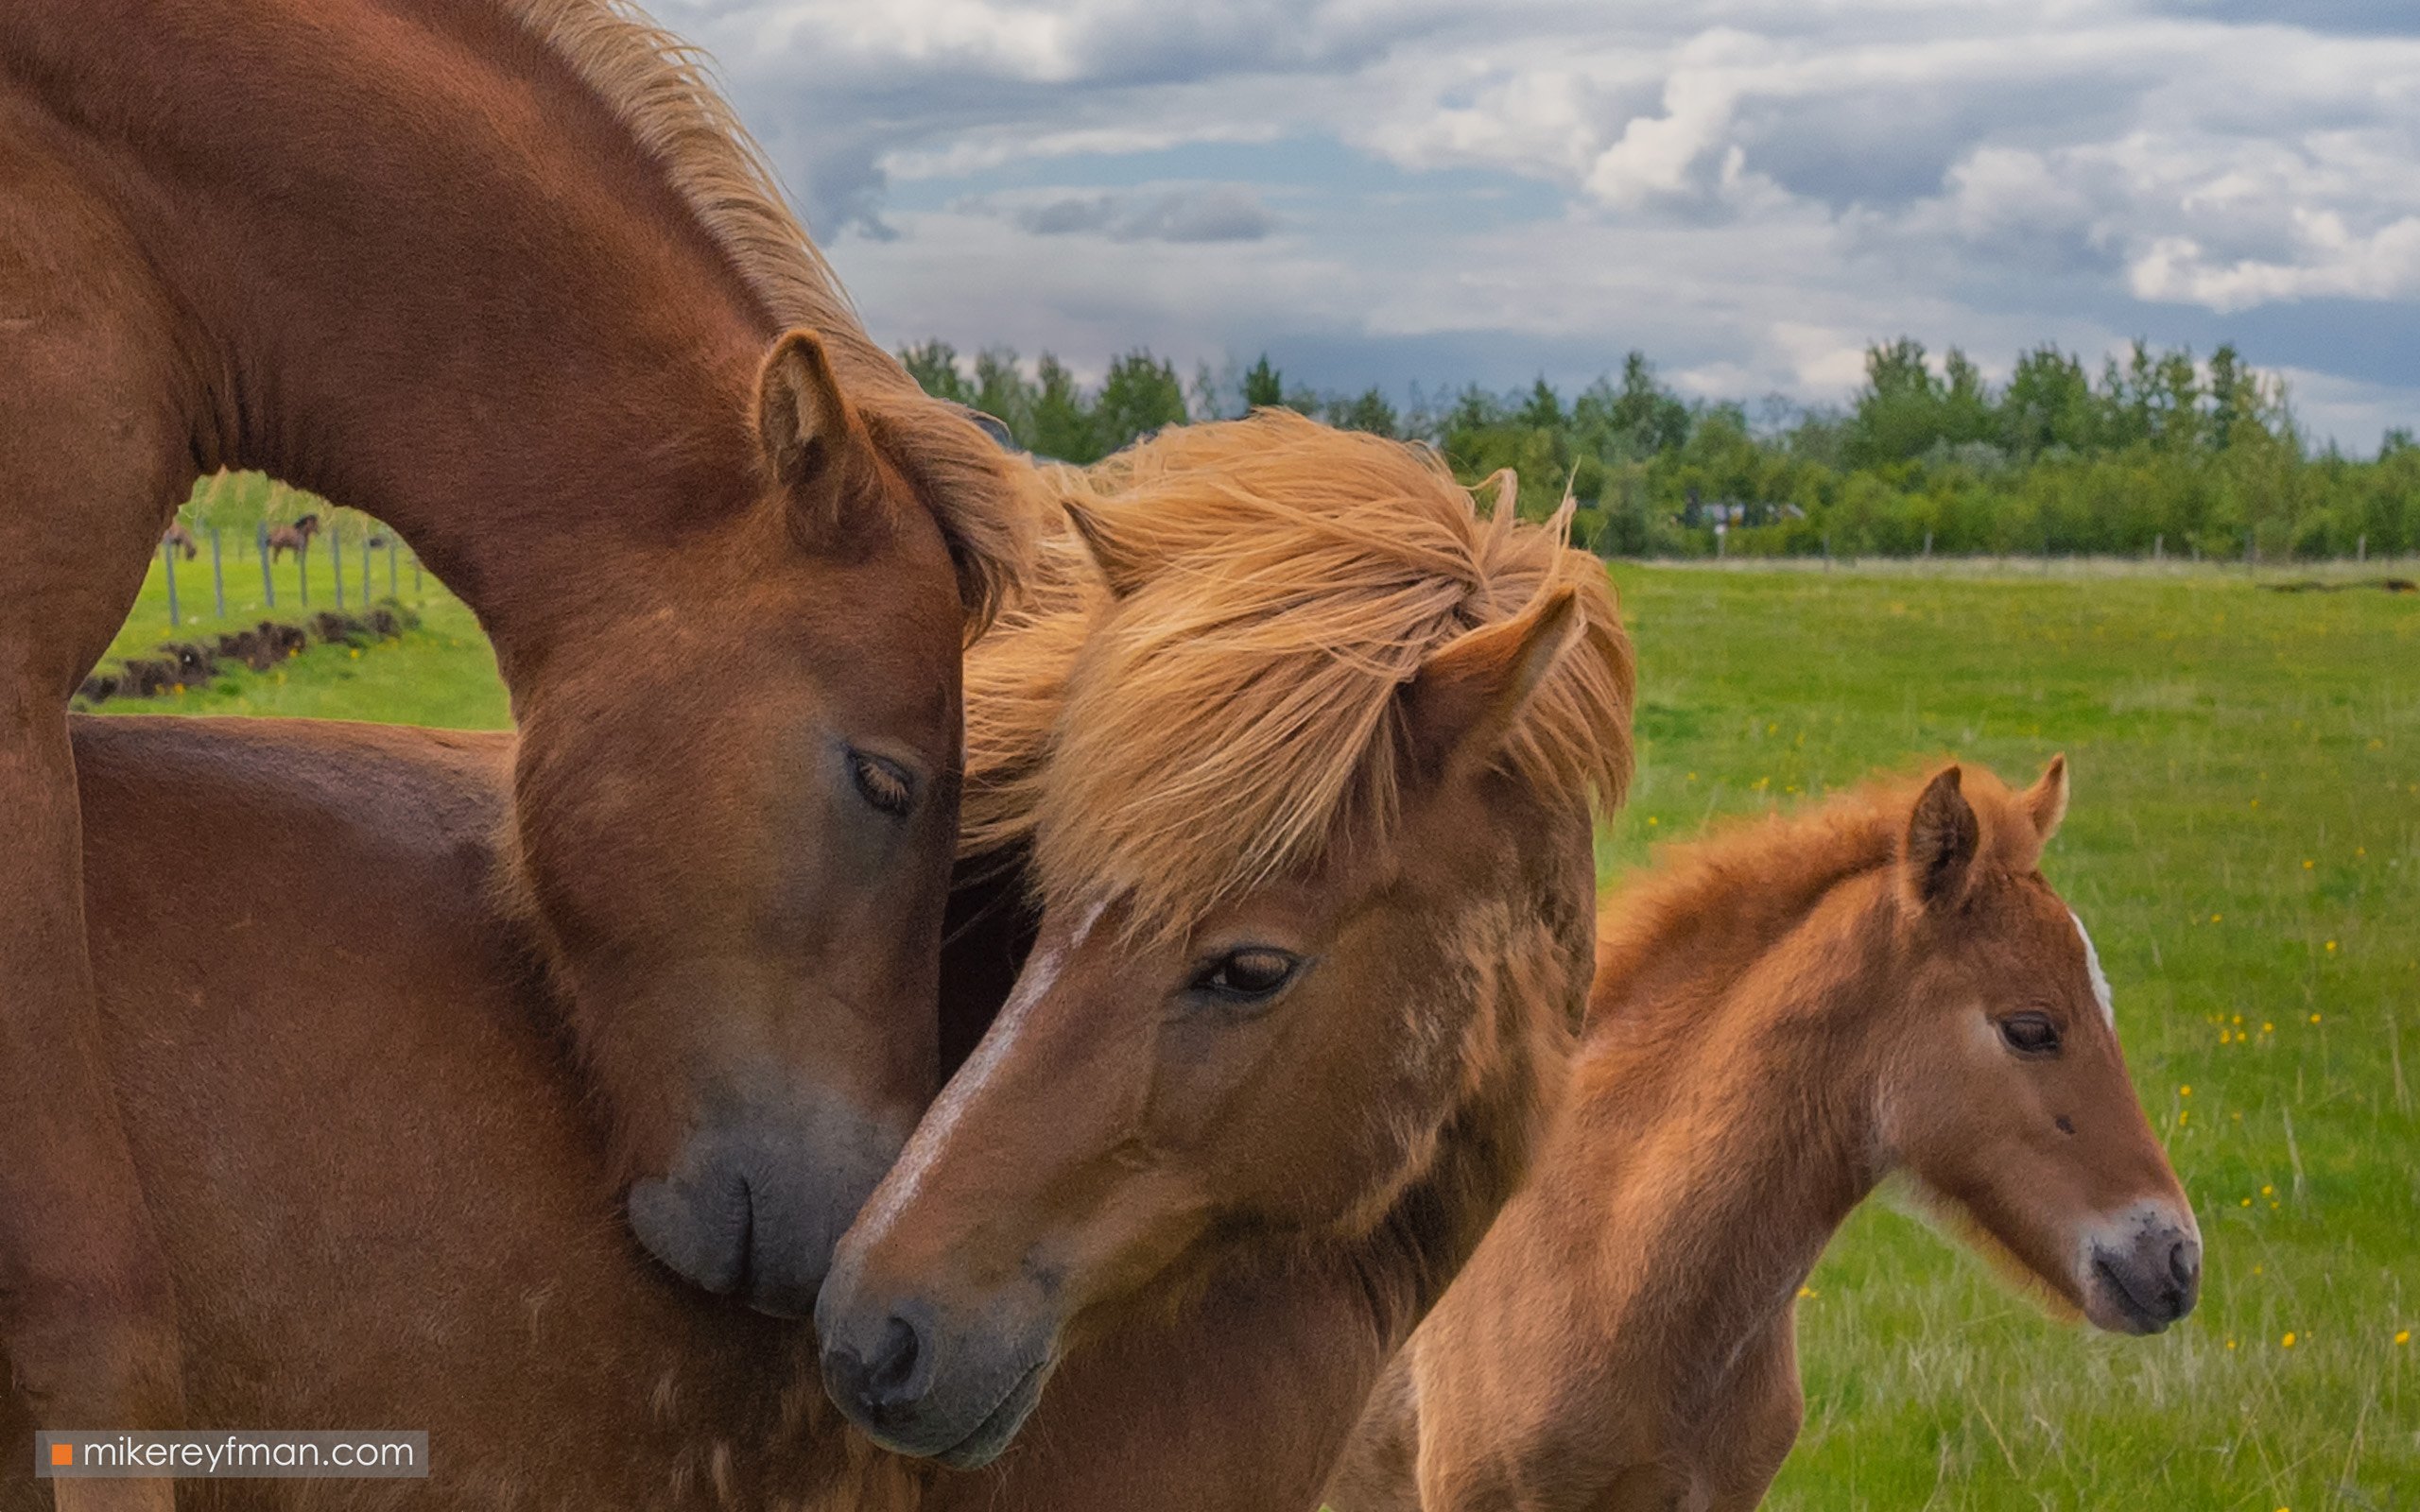
<path id="1" fill-rule="evenodd" d="M 656 0 L 876 336 L 1846 397 L 2236 341 L 2420 421 L 2408 0 Z"/>

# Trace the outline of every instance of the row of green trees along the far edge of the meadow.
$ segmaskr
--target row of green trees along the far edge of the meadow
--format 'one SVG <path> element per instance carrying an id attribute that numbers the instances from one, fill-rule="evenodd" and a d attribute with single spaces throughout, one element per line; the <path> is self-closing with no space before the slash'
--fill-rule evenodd
<path id="1" fill-rule="evenodd" d="M 2113 554 L 2321 559 L 2420 552 L 2420 445 L 2391 431 L 2376 457 L 2314 448 L 2284 380 L 2234 346 L 2207 360 L 2137 341 L 2098 373 L 2038 346 L 1989 382 L 1955 346 L 1866 351 L 1844 406 L 1684 399 L 1643 353 L 1566 397 L 1527 389 L 1324 394 L 1261 356 L 1191 382 L 1147 348 L 1096 387 L 1050 353 L 900 353 L 932 394 L 997 416 L 1019 445 L 1096 462 L 1159 431 L 1285 404 L 1353 431 L 1435 445 L 1469 481 L 1520 474 L 1522 513 L 1566 489 L 1575 537 L 1609 556 Z"/>

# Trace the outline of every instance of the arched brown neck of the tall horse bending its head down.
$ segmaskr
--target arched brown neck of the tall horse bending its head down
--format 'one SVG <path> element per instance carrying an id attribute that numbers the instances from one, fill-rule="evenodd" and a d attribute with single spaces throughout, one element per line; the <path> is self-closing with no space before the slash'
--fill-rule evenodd
<path id="1" fill-rule="evenodd" d="M 499 5 L 339 5 L 29 0 L 0 44 L 182 312 L 196 462 L 394 525 L 511 677 L 595 607 L 569 585 L 634 581 L 615 559 L 753 496 L 772 322 Z"/>

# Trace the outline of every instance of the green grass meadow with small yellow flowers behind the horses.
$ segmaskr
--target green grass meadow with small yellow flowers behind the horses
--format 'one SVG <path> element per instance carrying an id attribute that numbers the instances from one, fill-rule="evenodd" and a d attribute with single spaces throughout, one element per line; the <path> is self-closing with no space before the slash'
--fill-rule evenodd
<path id="1" fill-rule="evenodd" d="M 2219 571 L 1614 576 L 1641 779 L 1607 876 L 1876 767 L 2072 757 L 2045 866 L 2207 1241 L 2202 1309 L 2113 1340 L 1871 1202 L 1800 1302 L 1808 1427 L 1771 1505 L 2420 1510 L 2420 600 Z M 174 706 L 506 719 L 433 585 L 402 644 Z"/>

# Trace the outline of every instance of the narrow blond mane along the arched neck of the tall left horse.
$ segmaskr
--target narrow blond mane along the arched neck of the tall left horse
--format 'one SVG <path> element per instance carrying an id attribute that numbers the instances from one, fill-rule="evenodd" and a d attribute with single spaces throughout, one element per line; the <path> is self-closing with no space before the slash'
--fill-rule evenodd
<path id="1" fill-rule="evenodd" d="M 1041 518 L 1031 469 L 999 455 L 963 409 L 929 399 L 866 334 L 699 48 L 632 0 L 499 5 L 622 121 L 765 314 L 823 336 L 859 414 L 949 537 L 968 634 L 980 634 L 1024 571 Z"/>

